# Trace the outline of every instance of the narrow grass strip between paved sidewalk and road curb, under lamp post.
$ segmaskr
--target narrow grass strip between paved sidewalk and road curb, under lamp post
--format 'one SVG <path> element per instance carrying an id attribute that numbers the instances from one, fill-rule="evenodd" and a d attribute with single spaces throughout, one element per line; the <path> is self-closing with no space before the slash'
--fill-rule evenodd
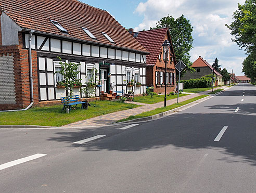
<path id="1" fill-rule="evenodd" d="M 173 105 L 170 105 L 170 106 L 167 106 L 167 107 L 161 107 L 161 108 L 158 108 L 158 109 L 155 109 L 155 110 L 151 110 L 151 111 L 147 111 L 147 112 L 143 112 L 143 113 L 140 113 L 140 114 L 137 114 L 135 116 L 130 116 L 126 119 L 121 119 L 117 122 L 123 122 L 123 121 L 127 121 L 127 120 L 132 120 L 132 119 L 137 119 L 137 118 L 143 118 L 143 117 L 149 117 L 151 115 L 155 115 L 155 114 L 159 114 L 161 112 L 165 112 L 165 111 L 169 111 L 169 110 L 172 110 L 172 109 L 175 109 L 177 107 L 181 107 L 183 105 L 186 105 L 186 104 L 189 104 L 190 102 L 193 102 L 193 101 L 196 101 L 200 98 L 204 98 L 204 97 L 207 97 L 208 95 L 200 95 L 198 97 L 195 97 L 195 98 L 191 98 L 189 100 L 185 100 L 183 102 L 180 102 L 178 104 L 173 104 Z"/>

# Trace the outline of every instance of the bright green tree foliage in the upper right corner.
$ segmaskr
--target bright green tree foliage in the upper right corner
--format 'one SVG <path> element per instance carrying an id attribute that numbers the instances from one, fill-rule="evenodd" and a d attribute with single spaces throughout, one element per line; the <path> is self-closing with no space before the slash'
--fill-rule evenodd
<path id="1" fill-rule="evenodd" d="M 238 10 L 233 14 L 233 21 L 226 26 L 235 36 L 234 42 L 247 54 L 256 48 L 256 4 L 255 0 L 246 0 L 244 5 L 238 4 Z"/>

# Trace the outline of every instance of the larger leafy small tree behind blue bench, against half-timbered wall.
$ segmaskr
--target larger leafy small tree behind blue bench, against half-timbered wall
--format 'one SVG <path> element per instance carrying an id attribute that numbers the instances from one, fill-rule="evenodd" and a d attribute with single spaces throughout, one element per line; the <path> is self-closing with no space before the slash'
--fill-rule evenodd
<path id="1" fill-rule="evenodd" d="M 60 71 L 56 71 L 55 73 L 60 73 L 63 76 L 63 81 L 57 82 L 57 85 L 65 86 L 66 92 L 68 96 L 72 95 L 72 88 L 74 86 L 81 86 L 81 79 L 78 79 L 79 74 L 79 66 L 80 63 L 72 63 L 72 62 L 62 62 L 60 57 L 57 57 L 60 62 Z"/>

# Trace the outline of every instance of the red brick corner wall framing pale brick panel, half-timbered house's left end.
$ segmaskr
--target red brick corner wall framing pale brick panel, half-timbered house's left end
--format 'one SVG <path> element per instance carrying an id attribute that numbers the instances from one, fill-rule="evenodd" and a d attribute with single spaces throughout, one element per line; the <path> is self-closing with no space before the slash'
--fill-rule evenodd
<path id="1" fill-rule="evenodd" d="M 19 34 L 20 35 L 20 34 Z M 20 41 L 22 43 L 22 41 Z M 30 93 L 30 72 L 29 72 L 29 50 L 22 49 L 22 45 L 0 46 L 0 56 L 12 56 L 15 83 L 16 103 L 0 102 L 0 110 L 21 109 L 27 107 L 31 102 Z M 8 64 L 10 65 L 10 63 Z M 33 90 L 34 104 L 39 103 L 38 80 L 37 80 L 37 56 L 32 50 Z M 10 77 L 10 78 L 11 78 Z M 6 88 L 8 89 L 9 86 Z M 1 96 L 1 95 L 0 95 Z M 2 98 L 2 96 L 1 96 Z M 0 101 L 2 99 L 0 98 Z"/>

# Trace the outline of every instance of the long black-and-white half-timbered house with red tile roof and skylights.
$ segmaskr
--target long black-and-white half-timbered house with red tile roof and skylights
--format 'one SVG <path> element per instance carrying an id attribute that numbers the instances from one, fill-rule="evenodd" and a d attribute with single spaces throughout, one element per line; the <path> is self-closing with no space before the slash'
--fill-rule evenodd
<path id="1" fill-rule="evenodd" d="M 62 79 L 55 73 L 60 68 L 57 56 L 80 63 L 83 85 L 97 69 L 97 96 L 110 90 L 142 94 L 147 54 L 105 10 L 76 0 L 0 0 L 0 110 L 66 96 L 57 85 Z M 128 87 L 124 80 L 135 78 L 142 86 Z M 73 92 L 83 97 L 80 88 Z"/>

